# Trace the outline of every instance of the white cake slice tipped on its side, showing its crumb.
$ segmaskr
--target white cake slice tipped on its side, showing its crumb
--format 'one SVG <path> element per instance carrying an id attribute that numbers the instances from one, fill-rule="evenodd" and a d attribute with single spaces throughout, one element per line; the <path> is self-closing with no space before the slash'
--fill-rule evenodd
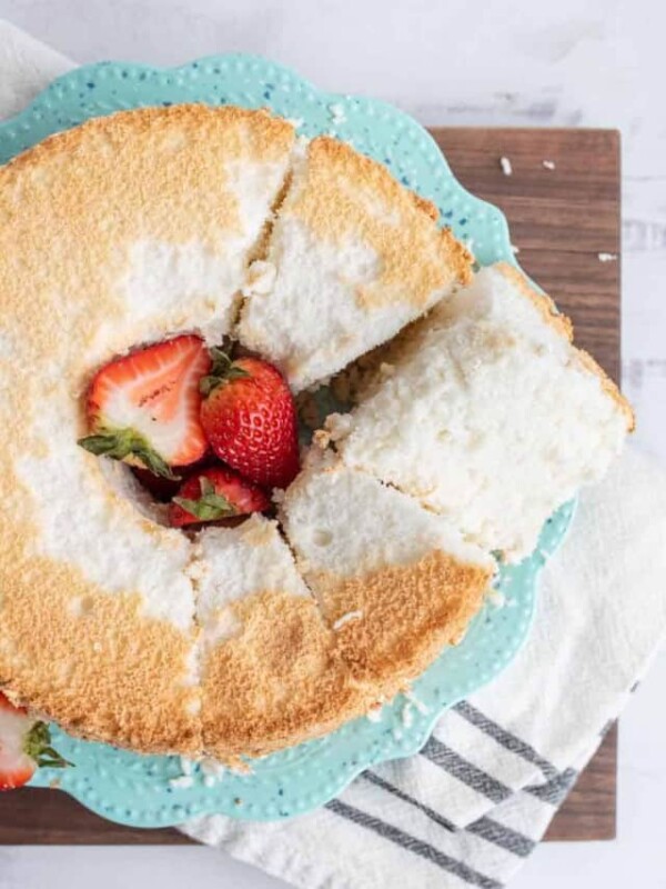
<path id="1" fill-rule="evenodd" d="M 507 560 L 619 452 L 633 414 L 572 343 L 567 318 L 505 263 L 407 331 L 346 416 L 344 463 L 373 473 Z"/>

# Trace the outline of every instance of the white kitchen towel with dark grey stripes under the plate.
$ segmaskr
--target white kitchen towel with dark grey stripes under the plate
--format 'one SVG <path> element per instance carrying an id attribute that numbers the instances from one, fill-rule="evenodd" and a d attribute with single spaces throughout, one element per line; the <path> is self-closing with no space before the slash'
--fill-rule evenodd
<path id="1" fill-rule="evenodd" d="M 72 67 L 0 22 L 0 117 Z M 502 887 L 543 836 L 666 631 L 666 473 L 628 450 L 584 491 L 534 629 L 423 751 L 312 815 L 183 829 L 303 889 Z"/>

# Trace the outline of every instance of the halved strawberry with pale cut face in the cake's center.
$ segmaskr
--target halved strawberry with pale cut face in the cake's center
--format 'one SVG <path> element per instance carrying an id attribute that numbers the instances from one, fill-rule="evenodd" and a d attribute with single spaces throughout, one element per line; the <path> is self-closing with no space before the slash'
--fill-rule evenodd
<path id="1" fill-rule="evenodd" d="M 99 370 L 87 399 L 91 453 L 124 460 L 155 476 L 176 478 L 208 449 L 199 420 L 199 380 L 211 360 L 203 340 L 175 337 L 117 358 Z"/>

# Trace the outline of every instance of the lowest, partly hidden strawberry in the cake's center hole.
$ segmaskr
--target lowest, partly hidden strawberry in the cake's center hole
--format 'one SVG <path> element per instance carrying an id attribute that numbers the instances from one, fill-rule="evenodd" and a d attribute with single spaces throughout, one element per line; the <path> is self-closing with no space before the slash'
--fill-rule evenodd
<path id="1" fill-rule="evenodd" d="M 224 467 L 211 467 L 191 476 L 181 485 L 169 508 L 174 528 L 202 521 L 219 521 L 233 516 L 263 512 L 271 498 L 258 485 Z"/>

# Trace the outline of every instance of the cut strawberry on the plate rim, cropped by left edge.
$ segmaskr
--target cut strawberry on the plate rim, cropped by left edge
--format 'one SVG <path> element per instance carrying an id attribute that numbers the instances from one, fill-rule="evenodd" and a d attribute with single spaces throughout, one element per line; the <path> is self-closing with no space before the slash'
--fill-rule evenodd
<path id="1" fill-rule="evenodd" d="M 51 747 L 46 722 L 14 707 L 0 691 L 0 790 L 23 787 L 40 766 L 71 766 Z"/>

